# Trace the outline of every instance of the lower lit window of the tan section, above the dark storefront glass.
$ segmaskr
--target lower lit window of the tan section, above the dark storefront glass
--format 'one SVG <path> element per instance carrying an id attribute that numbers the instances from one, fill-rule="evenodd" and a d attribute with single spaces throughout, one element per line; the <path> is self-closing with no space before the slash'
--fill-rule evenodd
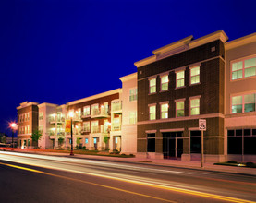
<path id="1" fill-rule="evenodd" d="M 232 113 L 255 112 L 255 94 L 232 97 Z"/>

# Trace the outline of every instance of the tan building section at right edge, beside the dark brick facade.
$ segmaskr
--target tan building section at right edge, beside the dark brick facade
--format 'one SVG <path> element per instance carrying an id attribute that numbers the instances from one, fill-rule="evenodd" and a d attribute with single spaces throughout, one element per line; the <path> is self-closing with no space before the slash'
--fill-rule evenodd
<path id="1" fill-rule="evenodd" d="M 256 161 L 256 33 L 226 42 L 225 154 Z"/>

